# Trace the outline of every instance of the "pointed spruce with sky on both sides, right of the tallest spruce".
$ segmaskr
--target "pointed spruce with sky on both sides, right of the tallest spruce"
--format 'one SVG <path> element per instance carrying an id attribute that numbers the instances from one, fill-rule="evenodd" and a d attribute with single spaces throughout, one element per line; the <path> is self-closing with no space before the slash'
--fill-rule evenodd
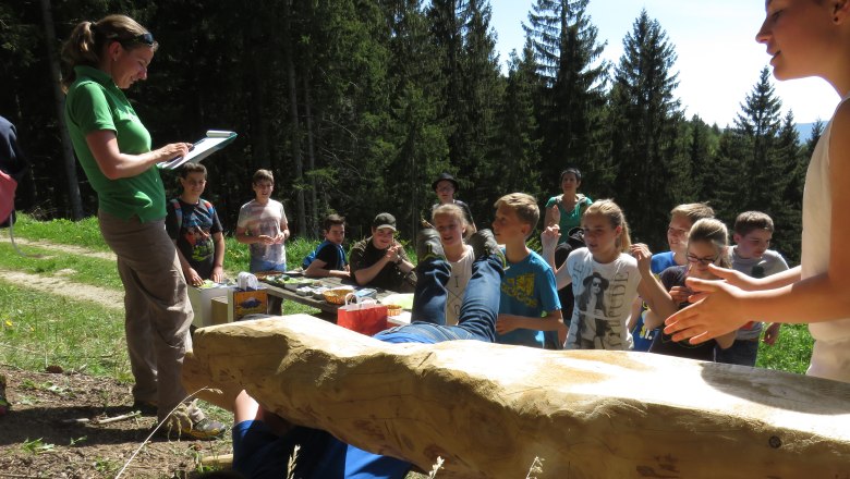
<path id="1" fill-rule="evenodd" d="M 673 96 L 676 52 L 645 10 L 623 39 L 623 50 L 610 100 L 615 199 L 638 206 L 627 211 L 632 229 L 658 248 L 665 244 L 668 211 L 688 196 L 681 184 L 691 170 L 677 143 L 682 113 Z"/>

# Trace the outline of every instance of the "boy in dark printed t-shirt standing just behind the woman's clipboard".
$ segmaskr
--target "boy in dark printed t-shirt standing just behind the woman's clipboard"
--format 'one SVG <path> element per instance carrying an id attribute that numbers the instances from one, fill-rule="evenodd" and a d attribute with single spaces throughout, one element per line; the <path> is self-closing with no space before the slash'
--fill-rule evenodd
<path id="1" fill-rule="evenodd" d="M 201 198 L 207 184 L 207 169 L 186 163 L 180 170 L 183 193 L 166 206 L 166 230 L 178 248 L 186 282 L 193 286 L 204 280 L 224 280 L 224 236 L 215 207 Z"/>

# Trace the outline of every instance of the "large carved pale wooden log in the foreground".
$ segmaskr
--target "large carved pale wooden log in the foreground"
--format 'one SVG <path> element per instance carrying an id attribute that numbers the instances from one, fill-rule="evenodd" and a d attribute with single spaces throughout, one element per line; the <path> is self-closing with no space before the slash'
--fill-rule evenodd
<path id="1" fill-rule="evenodd" d="M 201 329 L 191 383 L 438 478 L 845 478 L 850 384 L 624 352 L 386 344 L 304 315 Z"/>

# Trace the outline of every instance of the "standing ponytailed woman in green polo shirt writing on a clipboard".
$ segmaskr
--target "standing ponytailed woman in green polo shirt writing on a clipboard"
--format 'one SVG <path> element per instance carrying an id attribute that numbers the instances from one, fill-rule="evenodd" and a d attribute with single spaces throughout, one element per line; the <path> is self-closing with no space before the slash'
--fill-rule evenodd
<path id="1" fill-rule="evenodd" d="M 125 332 L 135 378 L 134 407 L 160 420 L 181 403 L 171 431 L 195 439 L 221 435 L 181 383 L 192 343 L 192 307 L 177 250 L 166 233 L 166 194 L 157 163 L 189 152 L 190 144 L 150 149 L 150 134 L 124 93 L 147 78 L 157 50 L 134 20 L 109 15 L 77 24 L 62 49 L 65 123 L 77 159 L 98 196 L 104 240 L 118 257 L 124 284 Z M 168 428 L 163 428 L 168 429 Z"/>

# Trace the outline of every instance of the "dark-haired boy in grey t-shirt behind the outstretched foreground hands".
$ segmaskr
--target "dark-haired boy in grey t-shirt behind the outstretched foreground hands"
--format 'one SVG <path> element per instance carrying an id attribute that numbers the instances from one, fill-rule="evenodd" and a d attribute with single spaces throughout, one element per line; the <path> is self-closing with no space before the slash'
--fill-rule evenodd
<path id="1" fill-rule="evenodd" d="M 768 249 L 774 236 L 774 220 L 761 211 L 744 211 L 734 220 L 731 247 L 732 269 L 749 277 L 765 278 L 788 269 L 779 253 Z M 717 361 L 730 365 L 755 366 L 758 339 L 764 330 L 765 344 L 774 345 L 781 323 L 764 328 L 761 321 L 750 321 L 738 330 L 732 346 L 717 349 Z"/>

